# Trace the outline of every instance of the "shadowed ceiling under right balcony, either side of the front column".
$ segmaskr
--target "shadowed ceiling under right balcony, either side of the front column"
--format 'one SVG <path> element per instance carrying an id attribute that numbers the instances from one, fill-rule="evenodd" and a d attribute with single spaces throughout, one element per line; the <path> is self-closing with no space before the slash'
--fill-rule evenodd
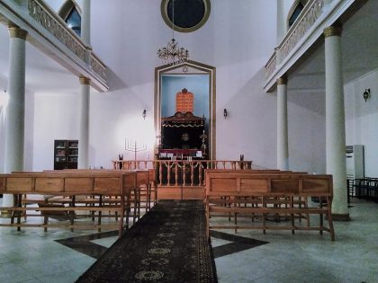
<path id="1" fill-rule="evenodd" d="M 377 12 L 378 1 L 370 0 L 343 22 L 341 45 L 344 84 L 378 68 Z M 324 99 L 324 51 L 324 39 L 320 39 L 288 72 L 287 85 L 290 102 L 302 104 L 303 107 L 322 114 L 324 107 L 314 110 L 311 95 L 316 93 Z"/>

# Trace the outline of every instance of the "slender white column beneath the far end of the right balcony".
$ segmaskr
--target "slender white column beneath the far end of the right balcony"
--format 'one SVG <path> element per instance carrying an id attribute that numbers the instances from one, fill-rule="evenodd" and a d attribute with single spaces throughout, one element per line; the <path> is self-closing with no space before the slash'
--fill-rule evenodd
<path id="1" fill-rule="evenodd" d="M 289 170 L 286 76 L 277 79 L 277 169 Z"/>

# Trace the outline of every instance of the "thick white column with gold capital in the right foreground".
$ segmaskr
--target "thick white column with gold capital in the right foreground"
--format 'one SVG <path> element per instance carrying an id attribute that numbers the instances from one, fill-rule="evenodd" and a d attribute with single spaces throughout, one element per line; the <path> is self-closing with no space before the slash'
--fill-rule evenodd
<path id="1" fill-rule="evenodd" d="M 326 60 L 327 173 L 333 176 L 332 214 L 350 220 L 347 208 L 346 128 L 339 26 L 324 29 Z"/>

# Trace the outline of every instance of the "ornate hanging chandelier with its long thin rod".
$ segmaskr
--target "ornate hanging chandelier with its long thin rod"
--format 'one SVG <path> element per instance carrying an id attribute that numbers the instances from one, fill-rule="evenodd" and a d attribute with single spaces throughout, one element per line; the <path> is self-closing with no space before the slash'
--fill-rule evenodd
<path id="1" fill-rule="evenodd" d="M 175 40 L 175 0 L 172 0 L 172 40 L 168 41 L 166 47 L 157 50 L 157 57 L 166 65 L 183 63 L 189 57 L 188 49 L 180 48 Z"/>

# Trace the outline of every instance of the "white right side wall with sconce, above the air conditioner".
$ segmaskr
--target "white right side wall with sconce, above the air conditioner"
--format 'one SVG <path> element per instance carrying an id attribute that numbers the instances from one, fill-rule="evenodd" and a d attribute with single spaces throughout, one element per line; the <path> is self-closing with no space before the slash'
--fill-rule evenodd
<path id="1" fill-rule="evenodd" d="M 363 93 L 370 88 L 371 98 Z M 362 76 L 344 88 L 347 145 L 365 146 L 365 176 L 378 176 L 378 70 Z"/>

